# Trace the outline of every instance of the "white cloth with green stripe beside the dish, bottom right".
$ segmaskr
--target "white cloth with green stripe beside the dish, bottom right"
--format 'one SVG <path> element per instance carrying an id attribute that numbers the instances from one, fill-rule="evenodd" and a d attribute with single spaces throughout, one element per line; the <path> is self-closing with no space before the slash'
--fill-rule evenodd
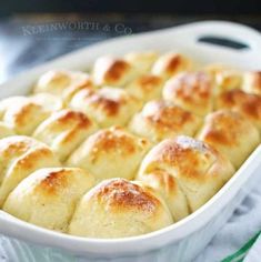
<path id="1" fill-rule="evenodd" d="M 261 187 L 257 185 L 195 262 L 261 261 Z"/>

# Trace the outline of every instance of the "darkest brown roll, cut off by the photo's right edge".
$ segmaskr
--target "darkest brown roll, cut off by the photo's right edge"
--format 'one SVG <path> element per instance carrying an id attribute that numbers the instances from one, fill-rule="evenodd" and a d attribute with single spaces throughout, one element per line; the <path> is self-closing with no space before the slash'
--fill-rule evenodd
<path id="1" fill-rule="evenodd" d="M 261 97 L 234 89 L 217 99 L 217 109 L 222 108 L 244 114 L 261 131 Z"/>

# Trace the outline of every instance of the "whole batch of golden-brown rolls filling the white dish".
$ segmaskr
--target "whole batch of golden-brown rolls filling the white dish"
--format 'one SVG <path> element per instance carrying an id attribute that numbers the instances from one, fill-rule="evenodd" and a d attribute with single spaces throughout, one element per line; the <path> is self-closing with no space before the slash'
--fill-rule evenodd
<path id="1" fill-rule="evenodd" d="M 207 203 L 260 143 L 260 72 L 178 52 L 51 70 L 0 101 L 0 208 L 86 238 L 126 238 Z"/>

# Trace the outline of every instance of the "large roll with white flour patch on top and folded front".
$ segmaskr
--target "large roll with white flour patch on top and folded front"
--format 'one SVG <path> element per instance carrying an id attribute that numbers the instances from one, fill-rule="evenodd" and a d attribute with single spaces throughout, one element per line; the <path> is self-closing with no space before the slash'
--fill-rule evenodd
<path id="1" fill-rule="evenodd" d="M 163 191 L 173 218 L 179 220 L 204 204 L 233 173 L 233 165 L 215 149 L 179 135 L 163 140 L 145 155 L 138 179 Z M 179 201 L 173 201 L 175 198 Z"/>

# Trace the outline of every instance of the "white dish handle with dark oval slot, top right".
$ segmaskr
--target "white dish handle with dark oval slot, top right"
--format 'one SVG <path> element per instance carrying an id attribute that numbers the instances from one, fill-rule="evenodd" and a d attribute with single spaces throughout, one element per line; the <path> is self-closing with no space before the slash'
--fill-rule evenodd
<path id="1" fill-rule="evenodd" d="M 230 48 L 260 56 L 261 34 L 259 31 L 243 24 L 227 21 L 195 22 L 180 28 L 183 40 L 204 42 L 201 39 L 223 39 L 224 43 L 232 43 Z M 205 41 L 208 42 L 208 41 Z M 227 46 L 213 41 L 213 44 Z M 233 47 L 234 43 L 234 47 Z M 229 46 L 229 44 L 228 44 Z M 240 48 L 242 47 L 242 48 Z"/>

